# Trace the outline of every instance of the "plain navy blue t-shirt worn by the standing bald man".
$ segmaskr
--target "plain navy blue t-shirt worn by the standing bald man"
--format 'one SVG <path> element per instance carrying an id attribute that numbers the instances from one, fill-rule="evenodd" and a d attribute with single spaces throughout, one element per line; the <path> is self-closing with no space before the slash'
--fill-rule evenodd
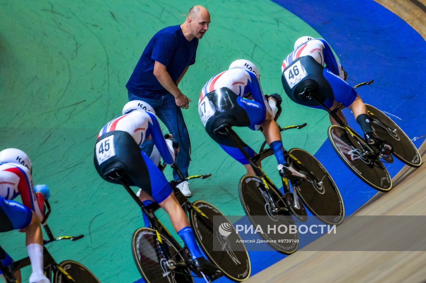
<path id="1" fill-rule="evenodd" d="M 168 26 L 158 31 L 145 47 L 129 81 L 128 90 L 139 97 L 154 98 L 158 94 L 167 94 L 154 76 L 154 63 L 167 66 L 167 71 L 176 82 L 187 66 L 195 63 L 198 38 L 188 41 L 180 25 Z"/>

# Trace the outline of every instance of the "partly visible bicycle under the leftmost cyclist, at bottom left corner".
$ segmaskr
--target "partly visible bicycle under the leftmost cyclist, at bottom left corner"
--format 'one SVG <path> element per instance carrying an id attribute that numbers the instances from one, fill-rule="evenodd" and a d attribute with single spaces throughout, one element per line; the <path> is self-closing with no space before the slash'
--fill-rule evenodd
<path id="1" fill-rule="evenodd" d="M 48 200 L 44 200 L 44 203 L 46 204 L 47 210 L 42 225 L 49 237 L 49 240 L 43 240 L 43 267 L 46 277 L 49 278 L 52 283 L 100 283 L 98 278 L 96 278 L 95 275 L 93 275 L 93 273 L 81 263 L 74 260 L 64 260 L 61 263 L 57 263 L 46 249 L 46 245 L 49 243 L 59 240 L 76 241 L 81 239 L 84 235 L 54 237 L 46 222 L 52 210 Z M 0 246 L 0 253 L 4 252 L 5 251 Z M 31 262 L 29 257 L 25 257 L 21 260 L 10 263 L 7 266 L 3 266 L 0 262 L 0 270 L 3 272 L 6 283 L 17 283 L 18 281 L 14 277 L 14 273 L 17 270 L 30 265 Z"/>

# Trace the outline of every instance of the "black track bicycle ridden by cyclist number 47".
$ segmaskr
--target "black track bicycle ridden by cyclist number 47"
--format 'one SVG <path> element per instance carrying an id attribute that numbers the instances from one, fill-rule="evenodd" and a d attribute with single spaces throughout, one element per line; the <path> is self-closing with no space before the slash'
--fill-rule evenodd
<path id="1" fill-rule="evenodd" d="M 280 106 L 278 109 L 275 119 L 281 112 Z M 282 128 L 281 131 L 302 129 L 305 126 L 306 123 L 299 126 L 288 126 Z M 343 222 L 345 208 L 339 189 L 324 166 L 311 154 L 298 148 L 285 151 L 287 163 L 298 172 L 305 174 L 306 179 L 289 180 L 282 177 L 283 194 L 259 166 L 263 159 L 273 155 L 272 149 L 265 149 L 266 142 L 261 146 L 259 154 L 250 158 L 244 149 L 245 143 L 229 124 L 225 123 L 218 127 L 215 129 L 215 133 L 229 135 L 233 143 L 249 160 L 250 166 L 255 172 L 255 175 L 244 175 L 239 181 L 239 196 L 242 206 L 250 222 L 255 226 L 262 224 L 259 223 L 261 220 L 256 216 L 269 216 L 273 221 L 283 221 L 284 225 L 294 225 L 295 220 L 305 222 L 307 220 L 305 207 L 324 223 L 338 225 Z M 265 233 L 264 229 L 261 236 L 265 240 L 275 241 L 286 237 L 285 241 L 288 243 L 268 242 L 283 254 L 292 254 L 299 246 L 297 233 L 276 235 Z"/>

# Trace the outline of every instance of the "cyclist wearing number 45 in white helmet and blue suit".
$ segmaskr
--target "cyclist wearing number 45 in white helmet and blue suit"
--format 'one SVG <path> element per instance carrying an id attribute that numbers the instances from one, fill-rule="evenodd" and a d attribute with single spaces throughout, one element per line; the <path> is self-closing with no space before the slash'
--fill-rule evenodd
<path id="1" fill-rule="evenodd" d="M 197 270 L 212 279 L 219 277 L 221 272 L 203 257 L 188 218 L 166 177 L 140 149 L 144 141 L 153 139 L 164 162 L 172 165 L 176 159 L 177 143 L 170 136 L 164 139 L 155 111 L 148 103 L 132 100 L 124 105 L 122 114 L 99 132 L 94 156 L 96 170 L 104 180 L 119 183 L 104 174 L 115 167 L 123 169 L 126 173 L 124 182 L 141 188 L 138 197 L 145 206 L 155 201 L 167 212 L 173 227 L 188 247 Z M 146 215 L 144 221 L 147 226 L 149 220 Z"/>

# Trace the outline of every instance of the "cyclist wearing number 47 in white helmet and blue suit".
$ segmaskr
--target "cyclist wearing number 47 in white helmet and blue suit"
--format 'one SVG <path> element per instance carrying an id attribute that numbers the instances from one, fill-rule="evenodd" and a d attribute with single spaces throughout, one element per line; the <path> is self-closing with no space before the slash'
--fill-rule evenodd
<path id="1" fill-rule="evenodd" d="M 254 174 L 247 158 L 229 136 L 220 132 L 220 128 L 224 125 L 248 126 L 254 131 L 262 128 L 265 140 L 273 150 L 279 164 L 280 174 L 284 177 L 305 179 L 304 174 L 297 172 L 285 161 L 280 128 L 274 120 L 276 104 L 279 105 L 282 98 L 278 94 L 263 95 L 259 81 L 259 69 L 252 62 L 244 59 L 235 60 L 230 64 L 228 70 L 207 81 L 201 90 L 198 106 L 207 134 L 219 143 L 227 154 L 244 165 L 248 174 Z M 220 102 L 222 105 L 215 106 L 210 100 L 213 96 L 229 97 L 229 99 Z M 224 105 L 229 107 L 224 109 Z M 244 149 L 250 157 L 255 155 L 250 146 L 245 145 Z"/>

